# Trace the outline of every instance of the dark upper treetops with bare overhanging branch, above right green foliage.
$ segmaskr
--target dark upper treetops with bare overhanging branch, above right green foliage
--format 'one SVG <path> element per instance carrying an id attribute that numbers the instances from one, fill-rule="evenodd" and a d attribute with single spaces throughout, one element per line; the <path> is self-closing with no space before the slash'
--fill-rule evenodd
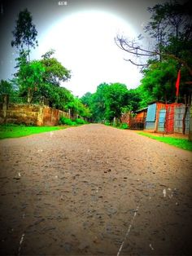
<path id="1" fill-rule="evenodd" d="M 160 61 L 176 60 L 192 76 L 192 63 L 189 57 L 192 45 L 190 2 L 157 4 L 155 7 L 149 7 L 148 11 L 151 12 L 151 21 L 145 27 L 145 32 L 155 39 L 154 49 L 147 50 L 140 46 L 139 42 L 120 35 L 115 38 L 116 45 L 132 56 Z M 137 63 L 133 59 L 128 61 L 141 67 L 151 64 L 151 62 Z"/>

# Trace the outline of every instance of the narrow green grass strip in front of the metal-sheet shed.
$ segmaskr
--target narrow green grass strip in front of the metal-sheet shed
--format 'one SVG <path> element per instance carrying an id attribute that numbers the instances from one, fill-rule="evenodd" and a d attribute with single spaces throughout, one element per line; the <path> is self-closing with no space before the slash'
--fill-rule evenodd
<path id="1" fill-rule="evenodd" d="M 192 142 L 188 139 L 177 139 L 172 137 L 158 137 L 155 135 L 150 135 L 145 132 L 138 132 L 138 135 L 144 135 L 146 137 L 149 137 L 151 139 L 159 140 L 160 142 L 168 143 L 169 145 L 175 146 L 177 148 L 182 148 L 185 150 L 192 151 Z"/>

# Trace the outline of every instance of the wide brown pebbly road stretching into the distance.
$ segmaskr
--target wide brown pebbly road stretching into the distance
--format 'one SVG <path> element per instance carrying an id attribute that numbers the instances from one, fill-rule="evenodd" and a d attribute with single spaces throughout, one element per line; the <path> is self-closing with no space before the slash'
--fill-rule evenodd
<path id="1" fill-rule="evenodd" d="M 0 141 L 2 255 L 192 255 L 192 153 L 102 125 Z"/>

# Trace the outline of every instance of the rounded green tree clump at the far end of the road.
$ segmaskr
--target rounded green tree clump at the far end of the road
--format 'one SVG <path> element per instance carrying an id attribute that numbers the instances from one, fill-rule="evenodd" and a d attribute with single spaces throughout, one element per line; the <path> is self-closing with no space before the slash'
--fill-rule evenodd
<path id="1" fill-rule="evenodd" d="M 87 93 L 81 101 L 89 106 L 93 121 L 112 121 L 122 113 L 137 110 L 141 95 L 139 90 L 128 90 L 124 84 L 103 83 L 94 94 Z"/>

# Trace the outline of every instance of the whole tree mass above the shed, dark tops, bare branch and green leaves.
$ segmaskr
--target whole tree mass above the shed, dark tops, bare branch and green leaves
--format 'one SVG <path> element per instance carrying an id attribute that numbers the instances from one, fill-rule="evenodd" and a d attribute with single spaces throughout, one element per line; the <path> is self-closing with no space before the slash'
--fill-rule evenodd
<path id="1" fill-rule="evenodd" d="M 191 95 L 192 76 L 192 24 L 190 2 L 165 2 L 149 7 L 151 20 L 145 27 L 154 39 L 153 49 L 141 46 L 139 41 L 123 36 L 116 36 L 116 44 L 121 50 L 131 56 L 132 64 L 140 66 L 144 77 L 142 79 L 143 99 L 141 105 L 146 105 L 151 99 L 161 99 L 174 102 L 175 82 L 177 72 L 181 69 L 180 98 Z M 142 40 L 143 38 L 140 37 Z M 137 60 L 133 60 L 133 56 Z M 140 60 L 144 60 L 144 63 Z M 139 60 L 139 62 L 138 62 Z M 148 98 L 148 100 L 147 100 Z"/>

